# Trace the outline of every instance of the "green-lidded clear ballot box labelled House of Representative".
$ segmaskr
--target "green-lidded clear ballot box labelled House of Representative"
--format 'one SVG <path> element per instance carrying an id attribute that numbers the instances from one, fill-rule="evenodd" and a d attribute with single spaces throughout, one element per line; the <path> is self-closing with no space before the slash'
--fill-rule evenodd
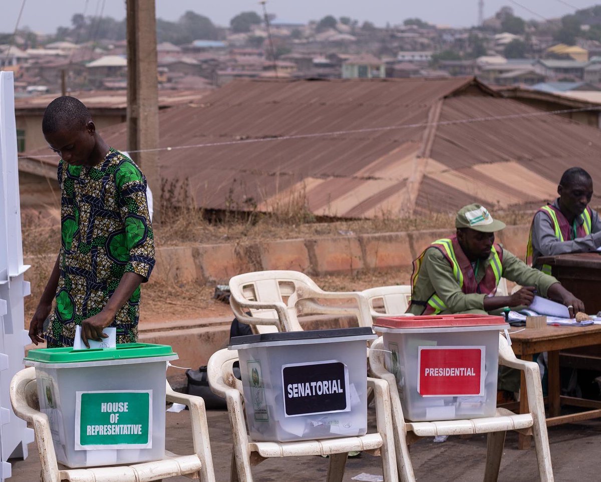
<path id="1" fill-rule="evenodd" d="M 160 460 L 165 456 L 165 377 L 170 346 L 29 350 L 40 410 L 56 460 L 72 468 Z"/>

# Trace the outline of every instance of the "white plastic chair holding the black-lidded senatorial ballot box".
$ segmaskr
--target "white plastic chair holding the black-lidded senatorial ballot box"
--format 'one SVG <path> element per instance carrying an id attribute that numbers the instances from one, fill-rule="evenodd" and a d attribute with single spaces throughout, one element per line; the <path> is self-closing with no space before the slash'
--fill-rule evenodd
<path id="1" fill-rule="evenodd" d="M 341 481 L 350 451 L 365 451 L 382 456 L 384 480 L 395 482 L 397 463 L 394 453 L 394 430 L 390 397 L 386 382 L 367 379 L 368 387 L 376 393 L 377 431 L 357 437 L 344 437 L 298 442 L 252 442 L 246 432 L 243 410 L 242 382 L 232 371 L 238 359 L 237 350 L 223 349 L 213 353 L 207 365 L 209 385 L 213 393 L 225 398 L 234 440 L 231 480 L 252 482 L 251 467 L 270 457 L 299 457 L 329 455 L 328 482 Z M 282 474 L 285 474 L 282 469 Z M 285 478 L 285 475 L 282 475 Z M 293 477 L 292 477 L 293 479 Z"/>

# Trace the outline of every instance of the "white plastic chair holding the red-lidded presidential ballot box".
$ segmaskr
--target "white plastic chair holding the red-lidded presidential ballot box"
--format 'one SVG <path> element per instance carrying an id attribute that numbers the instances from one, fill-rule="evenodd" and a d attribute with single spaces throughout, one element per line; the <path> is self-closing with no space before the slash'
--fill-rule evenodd
<path id="1" fill-rule="evenodd" d="M 406 421 L 403 416 L 397 382 L 394 374 L 385 368 L 384 346 L 382 338 L 378 338 L 371 346 L 370 367 L 374 377 L 386 380 L 390 389 L 392 402 L 392 417 L 396 428 L 394 433 L 395 448 L 397 450 L 397 464 L 400 480 L 413 481 L 413 467 L 409 457 L 408 445 L 420 437 L 434 437 L 438 435 L 468 435 L 487 433 L 487 457 L 485 481 L 496 481 L 501 465 L 505 432 L 531 433 L 534 435 L 538 472 L 540 480 L 550 482 L 553 478 L 551 466 L 551 451 L 549 451 L 549 438 L 545 421 L 545 404 L 543 391 L 540 385 L 540 371 L 534 362 L 517 359 L 504 336 L 499 335 L 499 365 L 522 370 L 526 379 L 528 392 L 529 413 L 516 415 L 510 410 L 497 408 L 496 415 L 488 418 L 472 418 L 464 420 L 445 420 L 433 422 Z"/>

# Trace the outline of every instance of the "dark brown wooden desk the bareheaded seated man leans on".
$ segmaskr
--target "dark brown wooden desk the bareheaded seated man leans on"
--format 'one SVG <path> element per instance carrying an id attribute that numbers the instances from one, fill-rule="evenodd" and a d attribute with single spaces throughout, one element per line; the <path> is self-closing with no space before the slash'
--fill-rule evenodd
<path id="1" fill-rule="evenodd" d="M 587 313 L 601 311 L 601 253 L 543 256 L 537 263 L 549 264 L 552 275 L 584 302 Z"/>

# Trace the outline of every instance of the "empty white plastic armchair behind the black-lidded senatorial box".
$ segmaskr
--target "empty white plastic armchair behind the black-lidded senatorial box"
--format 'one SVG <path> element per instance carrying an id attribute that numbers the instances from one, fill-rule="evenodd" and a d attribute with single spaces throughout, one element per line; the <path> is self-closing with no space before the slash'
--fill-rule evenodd
<path id="1" fill-rule="evenodd" d="M 301 331 L 301 314 L 346 314 L 359 326 L 371 326 L 365 297 L 358 291 L 323 291 L 304 273 L 256 271 L 230 279 L 230 306 L 236 318 L 259 333 Z M 319 304 L 322 300 L 354 300 L 355 307 Z M 251 313 L 251 316 L 247 312 Z"/>

